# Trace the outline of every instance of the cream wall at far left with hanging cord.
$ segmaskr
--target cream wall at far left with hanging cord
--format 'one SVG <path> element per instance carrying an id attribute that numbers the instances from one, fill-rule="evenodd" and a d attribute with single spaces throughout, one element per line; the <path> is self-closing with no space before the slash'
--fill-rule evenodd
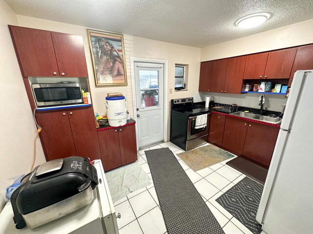
<path id="1" fill-rule="evenodd" d="M 0 1 L 0 180 L 29 173 L 36 133 L 8 24 L 18 24 L 16 14 L 5 1 Z M 37 140 L 35 165 L 44 162 L 41 142 Z"/>

